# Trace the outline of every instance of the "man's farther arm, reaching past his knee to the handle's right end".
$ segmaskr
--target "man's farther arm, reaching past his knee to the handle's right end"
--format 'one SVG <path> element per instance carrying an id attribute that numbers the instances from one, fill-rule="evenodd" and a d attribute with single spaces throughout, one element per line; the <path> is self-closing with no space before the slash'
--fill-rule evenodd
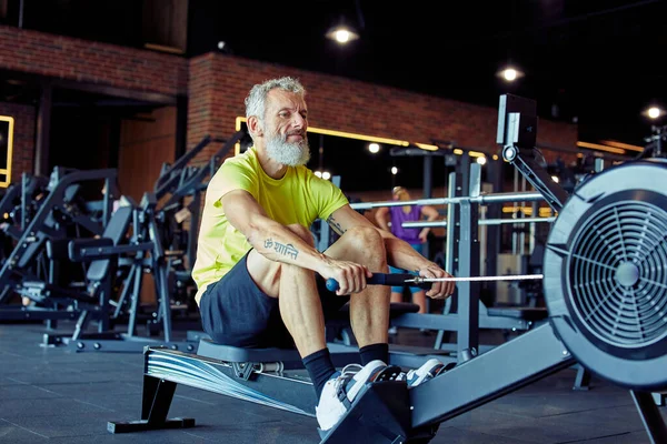
<path id="1" fill-rule="evenodd" d="M 327 219 L 327 222 L 338 234 L 344 234 L 352 226 L 374 228 L 385 240 L 387 261 L 396 268 L 415 270 L 422 278 L 451 276 L 438 264 L 417 253 L 409 243 L 401 241 L 388 231 L 376 228 L 368 219 L 352 210 L 350 205 L 344 205 L 336 210 Z M 451 293 L 454 293 L 454 282 L 436 282 L 426 294 L 430 297 L 447 297 Z"/>

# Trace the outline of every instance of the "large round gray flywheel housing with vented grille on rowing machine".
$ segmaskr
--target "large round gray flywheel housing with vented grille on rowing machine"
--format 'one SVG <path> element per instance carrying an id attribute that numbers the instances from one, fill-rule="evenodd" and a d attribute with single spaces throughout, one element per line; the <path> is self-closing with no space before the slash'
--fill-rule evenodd
<path id="1" fill-rule="evenodd" d="M 575 190 L 544 261 L 550 322 L 584 366 L 667 389 L 667 162 L 626 162 Z"/>

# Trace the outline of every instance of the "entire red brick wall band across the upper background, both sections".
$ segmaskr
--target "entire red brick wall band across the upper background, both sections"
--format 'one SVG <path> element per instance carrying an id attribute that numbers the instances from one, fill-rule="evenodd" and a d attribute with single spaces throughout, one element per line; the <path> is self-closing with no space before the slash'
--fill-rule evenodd
<path id="1" fill-rule="evenodd" d="M 187 93 L 188 148 L 206 134 L 230 137 L 235 119 L 245 114 L 243 99 L 252 84 L 289 74 L 309 91 L 312 127 L 421 143 L 449 140 L 497 151 L 496 108 L 221 53 L 187 60 L 0 26 L 0 69 L 171 97 Z M 540 120 L 538 144 L 574 151 L 576 140 L 576 125 Z"/>

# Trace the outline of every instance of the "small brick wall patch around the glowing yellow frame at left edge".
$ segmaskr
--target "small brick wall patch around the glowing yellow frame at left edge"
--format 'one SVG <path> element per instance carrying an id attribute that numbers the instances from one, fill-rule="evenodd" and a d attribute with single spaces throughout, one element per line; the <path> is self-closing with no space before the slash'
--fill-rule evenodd
<path id="1" fill-rule="evenodd" d="M 14 118 L 11 181 L 32 174 L 34 159 L 34 107 L 0 102 L 0 115 Z"/>

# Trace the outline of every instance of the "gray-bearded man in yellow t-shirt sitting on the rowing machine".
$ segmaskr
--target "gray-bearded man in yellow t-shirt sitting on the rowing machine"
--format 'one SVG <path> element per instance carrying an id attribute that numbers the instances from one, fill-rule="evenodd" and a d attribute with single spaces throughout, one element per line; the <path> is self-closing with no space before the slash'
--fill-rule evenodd
<path id="1" fill-rule="evenodd" d="M 352 210 L 342 192 L 306 168 L 306 91 L 292 78 L 256 84 L 246 98 L 253 147 L 227 159 L 207 188 L 192 278 L 205 331 L 220 344 L 296 346 L 318 396 L 322 431 L 345 415 L 361 387 L 387 369 L 389 287 L 366 284 L 388 262 L 424 278 L 447 272 Z M 310 225 L 326 220 L 340 238 L 325 252 Z M 335 279 L 339 290 L 326 289 Z M 447 297 L 452 282 L 435 283 Z M 359 343 L 360 369 L 337 372 L 325 320 L 345 303 Z M 430 360 L 404 375 L 415 386 L 442 369 Z"/>

